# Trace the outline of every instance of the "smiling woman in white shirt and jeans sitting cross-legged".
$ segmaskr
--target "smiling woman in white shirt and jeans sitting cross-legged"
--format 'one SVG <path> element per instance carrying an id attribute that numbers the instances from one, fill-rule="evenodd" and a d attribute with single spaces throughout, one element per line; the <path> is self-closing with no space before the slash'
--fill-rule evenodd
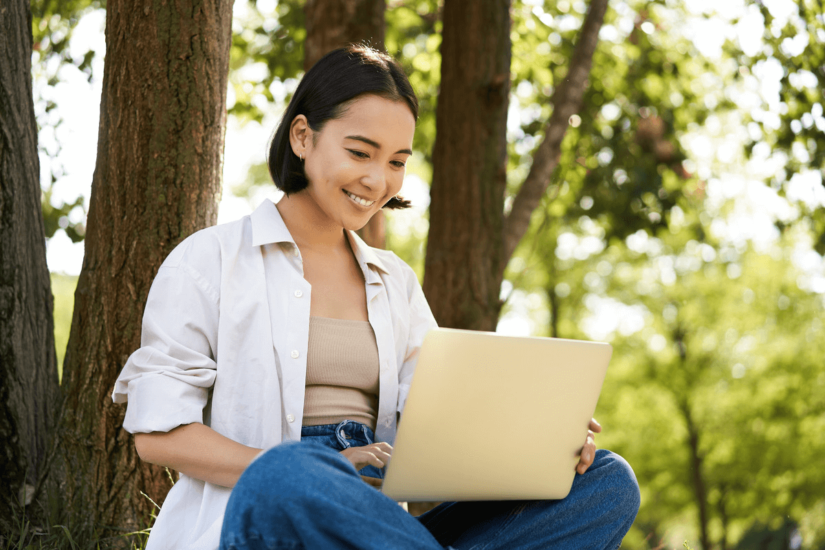
<path id="1" fill-rule="evenodd" d="M 383 207 L 408 205 L 397 194 L 417 109 L 394 59 L 363 46 L 328 54 L 271 143 L 284 198 L 192 235 L 164 261 L 142 346 L 113 396 L 128 399 L 124 427 L 141 458 L 181 472 L 148 550 L 217 548 L 222 522 L 221 548 L 471 548 L 494 538 L 521 548 L 514 536 L 547 548 L 547 518 L 559 540 L 582 524 L 568 515 L 595 525 L 577 527 L 589 538 L 568 536 L 569 548 L 608 537 L 605 522 L 610 535 L 593 548 L 615 548 L 629 529 L 633 474 L 596 454 L 592 434 L 578 466 L 595 456 L 577 477 L 582 498 L 454 503 L 416 519 L 370 487 L 380 486 L 436 323 L 413 270 L 352 232 Z M 593 506 L 600 515 L 581 511 Z"/>

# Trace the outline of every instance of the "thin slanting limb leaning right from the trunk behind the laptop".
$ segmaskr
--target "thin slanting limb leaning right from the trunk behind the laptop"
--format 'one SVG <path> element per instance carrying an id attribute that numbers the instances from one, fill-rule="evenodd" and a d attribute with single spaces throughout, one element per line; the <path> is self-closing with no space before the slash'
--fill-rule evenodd
<path id="1" fill-rule="evenodd" d="M 518 190 L 510 215 L 505 220 L 505 258 L 512 256 L 516 245 L 527 232 L 530 215 L 538 207 L 544 191 L 549 186 L 550 176 L 559 165 L 562 139 L 567 131 L 568 121 L 582 106 L 582 96 L 587 89 L 587 78 L 592 67 L 593 52 L 596 50 L 599 30 L 606 11 L 607 0 L 592 0 L 587 8 L 578 42 L 570 59 L 567 77 L 559 82 L 550 99 L 553 115 L 544 127 L 544 139 L 533 155 L 530 173 Z"/>

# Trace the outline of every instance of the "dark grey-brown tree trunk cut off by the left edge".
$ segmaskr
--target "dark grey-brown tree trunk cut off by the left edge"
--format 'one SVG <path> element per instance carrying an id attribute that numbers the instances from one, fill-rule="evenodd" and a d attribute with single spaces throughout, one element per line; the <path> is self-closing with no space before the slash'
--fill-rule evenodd
<path id="1" fill-rule="evenodd" d="M 0 9 L 0 531 L 38 485 L 59 387 L 31 95 L 31 6 Z M 26 485 L 29 487 L 26 488 Z M 21 501 L 23 501 L 21 503 Z"/>

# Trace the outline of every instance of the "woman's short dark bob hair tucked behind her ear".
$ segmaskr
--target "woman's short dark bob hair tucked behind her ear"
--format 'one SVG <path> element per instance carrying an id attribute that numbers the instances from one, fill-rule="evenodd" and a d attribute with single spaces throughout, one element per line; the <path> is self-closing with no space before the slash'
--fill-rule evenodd
<path id="1" fill-rule="evenodd" d="M 324 55 L 304 75 L 278 125 L 266 164 L 272 181 L 286 195 L 309 185 L 304 163 L 290 147 L 290 125 L 298 115 L 307 117 L 318 132 L 328 120 L 342 116 L 357 96 L 372 94 L 403 101 L 418 120 L 418 98 L 398 61 L 367 45 L 349 45 Z M 384 208 L 408 208 L 410 201 L 395 196 Z"/>

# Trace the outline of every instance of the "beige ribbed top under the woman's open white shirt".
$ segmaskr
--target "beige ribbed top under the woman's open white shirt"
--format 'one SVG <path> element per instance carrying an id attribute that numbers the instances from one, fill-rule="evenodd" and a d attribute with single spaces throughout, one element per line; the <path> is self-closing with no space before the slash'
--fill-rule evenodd
<path id="1" fill-rule="evenodd" d="M 303 425 L 358 421 L 375 430 L 379 360 L 367 321 L 309 317 Z"/>

